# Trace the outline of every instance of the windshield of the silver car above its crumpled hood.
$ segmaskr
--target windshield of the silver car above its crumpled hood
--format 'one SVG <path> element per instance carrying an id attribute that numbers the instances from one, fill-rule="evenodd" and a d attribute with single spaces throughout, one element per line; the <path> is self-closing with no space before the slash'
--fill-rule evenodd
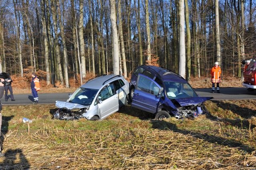
<path id="1" fill-rule="evenodd" d="M 82 104 L 82 105 L 90 105 L 92 104 L 92 100 L 94 99 L 98 90 L 90 89 L 90 88 L 78 88 L 74 94 L 70 97 L 68 102 Z"/>

